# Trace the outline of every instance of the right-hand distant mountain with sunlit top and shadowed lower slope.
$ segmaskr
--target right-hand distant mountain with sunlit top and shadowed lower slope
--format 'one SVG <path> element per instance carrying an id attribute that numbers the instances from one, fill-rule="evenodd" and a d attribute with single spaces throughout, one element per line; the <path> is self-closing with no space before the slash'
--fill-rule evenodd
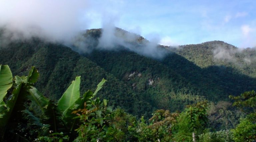
<path id="1" fill-rule="evenodd" d="M 189 65 L 183 64 L 183 67 L 175 68 L 176 71 L 202 87 L 218 88 L 223 95 L 240 95 L 255 89 L 255 48 L 241 49 L 223 41 L 209 41 L 183 45 L 174 52 L 197 66 L 192 69 L 194 77 L 188 74 L 191 69 L 186 66 Z"/>

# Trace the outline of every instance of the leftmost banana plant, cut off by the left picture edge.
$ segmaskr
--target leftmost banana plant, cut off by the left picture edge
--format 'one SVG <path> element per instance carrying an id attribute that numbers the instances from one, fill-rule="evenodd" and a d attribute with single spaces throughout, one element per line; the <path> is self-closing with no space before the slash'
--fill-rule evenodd
<path id="1" fill-rule="evenodd" d="M 38 71 L 32 67 L 28 76 L 15 76 L 14 84 L 12 83 L 12 73 L 8 65 L 0 65 L 0 138 L 4 138 L 6 131 L 9 136 L 16 137 L 16 140 L 27 141 L 22 136 L 12 133 L 11 130 L 17 125 L 17 119 L 22 115 L 25 109 L 24 102 L 29 95 L 33 83 L 37 81 Z M 5 99 L 8 89 L 13 87 L 9 99 Z"/>

